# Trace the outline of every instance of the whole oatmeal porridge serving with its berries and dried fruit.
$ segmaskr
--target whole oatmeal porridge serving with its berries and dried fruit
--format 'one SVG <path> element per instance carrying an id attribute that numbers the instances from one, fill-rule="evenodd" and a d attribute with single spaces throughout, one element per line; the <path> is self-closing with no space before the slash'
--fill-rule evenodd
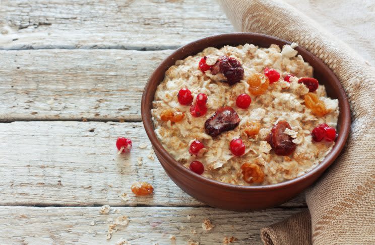
<path id="1" fill-rule="evenodd" d="M 234 185 L 269 185 L 316 167 L 335 144 L 327 97 L 297 44 L 209 47 L 177 60 L 153 101 L 164 148 L 184 167 Z"/>

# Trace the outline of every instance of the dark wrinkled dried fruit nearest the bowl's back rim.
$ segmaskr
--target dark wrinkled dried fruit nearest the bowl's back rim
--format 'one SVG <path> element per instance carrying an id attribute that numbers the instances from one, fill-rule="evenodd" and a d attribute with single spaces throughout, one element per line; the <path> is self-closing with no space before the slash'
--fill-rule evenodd
<path id="1" fill-rule="evenodd" d="M 219 68 L 219 69 L 218 69 Z M 243 68 L 241 63 L 233 57 L 221 56 L 211 67 L 212 74 L 217 74 L 218 71 L 223 73 L 227 78 L 226 83 L 233 85 L 238 83 L 243 78 Z"/>

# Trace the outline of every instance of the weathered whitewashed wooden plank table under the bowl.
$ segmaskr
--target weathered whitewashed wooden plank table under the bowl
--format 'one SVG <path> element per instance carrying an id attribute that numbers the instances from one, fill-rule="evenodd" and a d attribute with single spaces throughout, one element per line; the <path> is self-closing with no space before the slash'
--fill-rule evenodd
<path id="1" fill-rule="evenodd" d="M 260 212 L 209 208 L 152 159 L 140 115 L 147 77 L 178 46 L 232 31 L 210 0 L 3 0 L 0 244 L 260 244 L 261 227 L 305 210 L 302 195 Z M 118 136 L 133 140 L 131 154 L 116 154 Z M 154 195 L 135 197 L 135 181 Z M 120 214 L 130 223 L 106 239 Z"/>

